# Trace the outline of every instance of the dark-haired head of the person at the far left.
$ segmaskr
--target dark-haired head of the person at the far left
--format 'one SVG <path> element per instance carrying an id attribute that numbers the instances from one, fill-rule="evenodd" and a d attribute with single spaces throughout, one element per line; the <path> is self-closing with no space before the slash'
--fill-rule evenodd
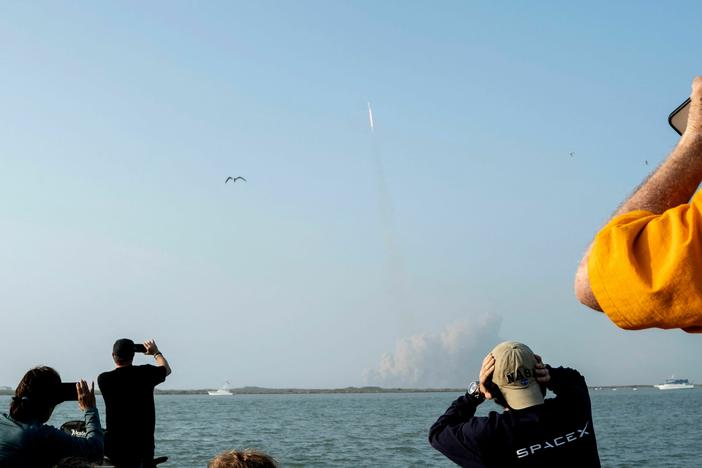
<path id="1" fill-rule="evenodd" d="M 10 403 L 10 416 L 20 422 L 45 423 L 59 403 L 61 377 L 51 367 L 40 366 L 24 374 Z"/>

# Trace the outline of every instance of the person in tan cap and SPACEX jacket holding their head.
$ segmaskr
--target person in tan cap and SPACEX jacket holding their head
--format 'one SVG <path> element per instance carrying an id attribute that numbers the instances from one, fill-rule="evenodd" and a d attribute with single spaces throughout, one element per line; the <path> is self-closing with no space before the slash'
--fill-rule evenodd
<path id="1" fill-rule="evenodd" d="M 556 395 L 544 399 L 546 389 Z M 504 412 L 476 417 L 484 400 Z M 576 370 L 545 366 L 529 347 L 500 343 L 480 380 L 429 431 L 432 447 L 464 467 L 599 467 L 587 384 Z"/>

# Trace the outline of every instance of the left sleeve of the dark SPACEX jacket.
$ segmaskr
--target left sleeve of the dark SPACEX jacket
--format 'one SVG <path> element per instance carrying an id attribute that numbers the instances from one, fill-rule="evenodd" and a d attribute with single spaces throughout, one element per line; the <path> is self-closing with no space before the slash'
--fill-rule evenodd
<path id="1" fill-rule="evenodd" d="M 429 443 L 461 466 L 483 467 L 475 436 L 485 427 L 485 418 L 476 418 L 478 403 L 472 398 L 457 398 L 429 429 Z"/>

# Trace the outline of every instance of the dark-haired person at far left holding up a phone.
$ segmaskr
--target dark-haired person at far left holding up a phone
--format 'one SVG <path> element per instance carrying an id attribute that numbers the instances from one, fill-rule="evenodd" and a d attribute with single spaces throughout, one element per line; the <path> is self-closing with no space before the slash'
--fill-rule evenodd
<path id="1" fill-rule="evenodd" d="M 85 412 L 85 437 L 73 437 L 45 424 L 62 402 L 61 377 L 51 367 L 29 370 L 15 389 L 10 413 L 0 416 L 0 466 L 50 468 L 66 457 L 102 461 L 103 432 L 95 407 L 94 384 L 76 384 Z"/>

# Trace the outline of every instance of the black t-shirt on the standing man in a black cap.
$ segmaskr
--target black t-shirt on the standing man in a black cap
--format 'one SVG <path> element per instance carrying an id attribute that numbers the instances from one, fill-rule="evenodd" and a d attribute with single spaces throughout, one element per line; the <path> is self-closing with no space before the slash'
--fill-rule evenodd
<path id="1" fill-rule="evenodd" d="M 126 366 L 98 377 L 107 412 L 105 452 L 115 458 L 153 458 L 154 387 L 166 380 L 163 366 Z"/>

